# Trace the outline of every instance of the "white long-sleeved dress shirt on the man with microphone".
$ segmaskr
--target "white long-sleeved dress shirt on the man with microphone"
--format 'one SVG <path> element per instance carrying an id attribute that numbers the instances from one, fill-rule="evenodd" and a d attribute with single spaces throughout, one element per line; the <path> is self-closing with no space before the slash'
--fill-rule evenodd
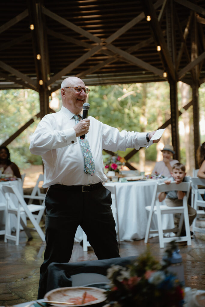
<path id="1" fill-rule="evenodd" d="M 119 132 L 89 116 L 90 128 L 87 134 L 95 162 L 93 176 L 84 172 L 84 157 L 76 137 L 74 114 L 62 107 L 57 113 L 45 115 L 31 138 L 30 151 L 41 155 L 44 166 L 43 188 L 50 185 L 89 185 L 106 181 L 102 150 L 125 151 L 148 145 L 145 132 Z"/>

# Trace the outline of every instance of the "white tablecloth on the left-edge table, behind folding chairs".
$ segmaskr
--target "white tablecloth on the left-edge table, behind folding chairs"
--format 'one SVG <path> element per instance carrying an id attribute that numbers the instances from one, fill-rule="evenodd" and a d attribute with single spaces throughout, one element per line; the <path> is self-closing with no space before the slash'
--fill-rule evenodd
<path id="1" fill-rule="evenodd" d="M 18 191 L 21 192 L 23 195 L 22 181 L 20 178 L 14 181 L 0 181 L 0 186 L 2 185 L 14 185 L 18 188 Z M 11 195 L 11 199 L 13 203 L 15 204 L 15 202 L 17 201 L 16 197 L 14 195 Z M 3 193 L 1 192 L 1 189 L 0 189 L 0 202 L 3 202 L 3 203 L 5 202 L 6 204 L 6 199 Z M 26 224 L 26 214 L 22 214 L 22 219 L 24 223 Z M 5 229 L 5 212 L 4 211 L 0 211 L 0 229 Z M 15 231 L 15 229 L 16 229 L 16 216 L 14 216 L 14 214 L 10 214 L 10 230 Z M 21 229 L 23 228 L 21 227 Z"/>

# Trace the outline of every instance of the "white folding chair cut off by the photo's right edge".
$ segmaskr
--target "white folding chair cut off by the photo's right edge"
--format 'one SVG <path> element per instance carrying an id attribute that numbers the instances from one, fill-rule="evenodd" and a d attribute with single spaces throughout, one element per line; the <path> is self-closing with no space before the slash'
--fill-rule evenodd
<path id="1" fill-rule="evenodd" d="M 197 216 L 194 219 L 192 223 L 192 231 L 195 233 L 202 232 L 205 233 L 205 228 L 196 227 L 196 221 L 199 220 L 200 217 L 205 216 L 205 211 L 203 209 L 199 209 L 199 207 L 205 208 L 205 200 L 203 200 L 201 195 L 204 195 L 205 193 L 205 179 L 199 178 L 199 177 L 193 177 L 191 178 L 192 182 L 192 190 L 194 190 L 194 209 L 197 212 Z M 204 187 L 204 188 L 198 188 Z"/>

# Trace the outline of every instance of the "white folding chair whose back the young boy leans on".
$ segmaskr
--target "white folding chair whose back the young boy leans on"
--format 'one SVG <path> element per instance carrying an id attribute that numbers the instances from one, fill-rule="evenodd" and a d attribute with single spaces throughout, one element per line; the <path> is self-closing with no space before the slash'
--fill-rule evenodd
<path id="1" fill-rule="evenodd" d="M 191 245 L 191 235 L 190 235 L 190 225 L 189 225 L 189 216 L 188 216 L 188 207 L 187 207 L 187 199 L 189 196 L 191 187 L 191 182 L 182 182 L 180 184 L 176 184 L 175 182 L 171 182 L 169 185 L 165 183 L 160 183 L 155 185 L 154 193 L 152 197 L 151 206 L 147 206 L 146 210 L 149 211 L 148 224 L 145 234 L 144 242 L 148 243 L 149 234 L 158 233 L 160 248 L 164 248 L 164 243 L 171 242 L 175 240 L 176 242 L 187 241 L 187 245 Z M 179 207 L 168 207 L 167 205 L 162 205 L 158 199 L 158 193 L 160 192 L 168 192 L 168 191 L 183 191 L 186 192 L 186 195 L 183 197 L 183 205 Z M 171 229 L 162 229 L 162 214 L 181 214 L 179 227 L 171 228 Z M 151 221 L 153 214 L 157 216 L 157 227 L 158 229 L 150 230 Z M 182 224 L 185 224 L 186 236 L 180 237 Z M 167 232 L 176 232 L 176 235 L 173 237 L 164 237 L 164 233 Z"/>

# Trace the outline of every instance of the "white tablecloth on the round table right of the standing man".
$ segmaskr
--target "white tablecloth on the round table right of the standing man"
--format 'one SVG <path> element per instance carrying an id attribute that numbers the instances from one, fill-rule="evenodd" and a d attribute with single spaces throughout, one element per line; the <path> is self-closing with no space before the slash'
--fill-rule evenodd
<path id="1" fill-rule="evenodd" d="M 148 222 L 148 212 L 145 207 L 151 205 L 155 182 L 155 180 L 150 180 L 104 184 L 105 187 L 108 184 L 116 186 L 120 241 L 144 239 Z M 157 229 L 156 222 L 156 216 L 153 215 L 151 229 Z M 164 214 L 162 224 L 163 229 L 174 227 L 173 215 Z M 81 242 L 81 240 L 82 229 L 78 227 L 75 241 Z"/>

